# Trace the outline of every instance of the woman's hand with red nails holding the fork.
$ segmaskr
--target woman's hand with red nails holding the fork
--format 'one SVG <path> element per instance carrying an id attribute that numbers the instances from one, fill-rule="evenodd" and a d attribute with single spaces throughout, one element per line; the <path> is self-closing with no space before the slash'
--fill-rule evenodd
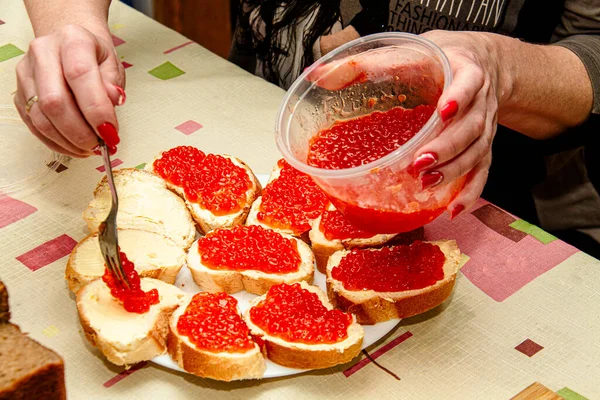
<path id="1" fill-rule="evenodd" d="M 124 86 L 125 73 L 108 27 L 67 25 L 30 43 L 17 65 L 14 102 L 29 130 L 46 146 L 87 157 L 98 145 L 98 135 L 116 151 L 114 106 L 125 101 Z M 37 101 L 31 100 L 34 96 Z"/>

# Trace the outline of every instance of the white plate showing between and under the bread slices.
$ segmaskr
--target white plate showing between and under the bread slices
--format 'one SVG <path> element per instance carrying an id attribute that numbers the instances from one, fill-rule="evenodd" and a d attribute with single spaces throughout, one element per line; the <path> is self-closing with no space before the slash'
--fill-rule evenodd
<path id="1" fill-rule="evenodd" d="M 265 185 L 268 180 L 268 175 L 257 175 L 258 180 L 262 185 Z M 315 279 L 313 284 L 315 286 L 320 287 L 325 293 L 327 293 L 327 287 L 325 285 L 325 275 L 320 273 L 315 267 Z M 187 267 L 184 267 L 177 275 L 177 280 L 175 281 L 175 286 L 183 290 L 185 293 L 195 294 L 200 292 L 200 288 L 194 282 L 192 278 L 192 274 Z M 238 300 L 238 306 L 240 311 L 243 313 L 248 308 L 250 301 L 256 298 L 256 295 L 247 293 L 247 292 L 239 292 L 232 294 Z M 362 348 L 365 349 L 383 338 L 387 335 L 396 325 L 400 322 L 399 319 L 393 319 L 386 322 L 380 322 L 376 325 L 363 325 L 365 330 L 365 337 L 363 339 Z M 173 369 L 175 371 L 186 372 L 183 369 L 179 368 L 177 363 L 171 359 L 168 354 L 163 354 L 162 356 L 154 357 L 152 360 L 153 363 L 161 365 L 165 368 Z M 280 376 L 287 375 L 295 375 L 300 374 L 302 372 L 306 372 L 304 369 L 295 369 L 295 368 L 286 368 L 281 365 L 275 364 L 267 360 L 267 369 L 265 371 L 265 375 L 263 378 L 276 378 Z"/>

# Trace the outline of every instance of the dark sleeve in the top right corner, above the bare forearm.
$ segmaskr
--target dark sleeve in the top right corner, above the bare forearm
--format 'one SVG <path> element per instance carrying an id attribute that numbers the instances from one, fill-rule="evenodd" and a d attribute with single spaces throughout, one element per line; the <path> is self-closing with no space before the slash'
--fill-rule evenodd
<path id="1" fill-rule="evenodd" d="M 600 1 L 566 0 L 552 42 L 581 59 L 592 82 L 592 113 L 600 114 Z"/>

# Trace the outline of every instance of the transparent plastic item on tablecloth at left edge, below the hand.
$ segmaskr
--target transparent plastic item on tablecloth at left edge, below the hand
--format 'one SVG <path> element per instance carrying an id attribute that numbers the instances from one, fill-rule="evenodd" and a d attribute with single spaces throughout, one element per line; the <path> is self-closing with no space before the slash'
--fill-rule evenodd
<path id="1" fill-rule="evenodd" d="M 29 132 L 14 106 L 0 105 L 0 199 L 37 190 L 67 164 L 68 157 L 48 149 Z"/>

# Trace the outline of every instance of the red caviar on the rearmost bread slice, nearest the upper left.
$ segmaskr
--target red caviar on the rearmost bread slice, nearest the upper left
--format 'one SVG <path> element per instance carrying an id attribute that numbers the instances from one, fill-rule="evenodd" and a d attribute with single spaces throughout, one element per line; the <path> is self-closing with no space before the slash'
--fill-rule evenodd
<path id="1" fill-rule="evenodd" d="M 183 188 L 192 203 L 215 215 L 240 211 L 252 186 L 247 171 L 229 158 L 204 154 L 192 146 L 165 151 L 154 161 L 154 171 L 166 181 Z"/>

